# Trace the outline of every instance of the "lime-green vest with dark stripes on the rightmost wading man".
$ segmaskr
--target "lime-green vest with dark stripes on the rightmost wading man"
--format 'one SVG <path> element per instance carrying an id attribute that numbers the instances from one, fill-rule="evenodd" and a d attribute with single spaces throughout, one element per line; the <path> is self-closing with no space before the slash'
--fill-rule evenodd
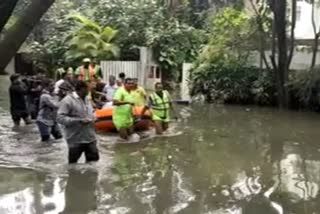
<path id="1" fill-rule="evenodd" d="M 169 92 L 164 90 L 162 98 L 154 92 L 150 95 L 150 99 L 152 113 L 161 119 L 167 118 L 171 103 Z"/>

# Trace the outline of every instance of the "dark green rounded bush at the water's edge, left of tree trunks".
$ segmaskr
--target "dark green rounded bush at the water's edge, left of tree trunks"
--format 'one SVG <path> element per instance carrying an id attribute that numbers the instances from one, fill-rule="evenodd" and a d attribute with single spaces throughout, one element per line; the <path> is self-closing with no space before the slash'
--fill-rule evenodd
<path id="1" fill-rule="evenodd" d="M 192 94 L 204 94 L 208 102 L 273 103 L 272 78 L 245 61 L 221 58 L 214 63 L 199 64 L 190 79 Z"/>

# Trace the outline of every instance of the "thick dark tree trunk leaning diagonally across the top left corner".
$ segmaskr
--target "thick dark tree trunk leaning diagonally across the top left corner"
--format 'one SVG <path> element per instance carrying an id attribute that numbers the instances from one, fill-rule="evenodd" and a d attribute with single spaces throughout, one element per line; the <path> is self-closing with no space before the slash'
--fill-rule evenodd
<path id="1" fill-rule="evenodd" d="M 55 0 L 32 0 L 24 14 L 0 42 L 0 71 L 8 65 L 20 46 Z"/>

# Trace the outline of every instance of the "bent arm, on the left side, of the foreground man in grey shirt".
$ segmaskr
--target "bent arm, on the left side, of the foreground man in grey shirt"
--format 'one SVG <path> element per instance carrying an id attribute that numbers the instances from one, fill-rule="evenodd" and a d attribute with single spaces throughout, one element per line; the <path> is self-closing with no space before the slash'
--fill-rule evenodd
<path id="1" fill-rule="evenodd" d="M 81 118 L 71 116 L 70 111 L 71 109 L 70 109 L 70 104 L 68 103 L 68 98 L 65 98 L 64 100 L 62 100 L 58 109 L 58 116 L 57 116 L 58 123 L 64 126 L 71 126 L 73 124 L 83 121 L 83 119 Z"/>

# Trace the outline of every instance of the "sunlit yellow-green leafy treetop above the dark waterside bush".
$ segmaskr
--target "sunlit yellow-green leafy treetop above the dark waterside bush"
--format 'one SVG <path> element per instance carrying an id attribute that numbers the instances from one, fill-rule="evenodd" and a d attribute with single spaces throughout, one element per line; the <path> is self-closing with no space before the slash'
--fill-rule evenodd
<path id="1" fill-rule="evenodd" d="M 200 55 L 201 61 L 248 57 L 253 35 L 250 19 L 243 11 L 224 8 L 209 17 L 208 27 L 209 41 Z"/>

